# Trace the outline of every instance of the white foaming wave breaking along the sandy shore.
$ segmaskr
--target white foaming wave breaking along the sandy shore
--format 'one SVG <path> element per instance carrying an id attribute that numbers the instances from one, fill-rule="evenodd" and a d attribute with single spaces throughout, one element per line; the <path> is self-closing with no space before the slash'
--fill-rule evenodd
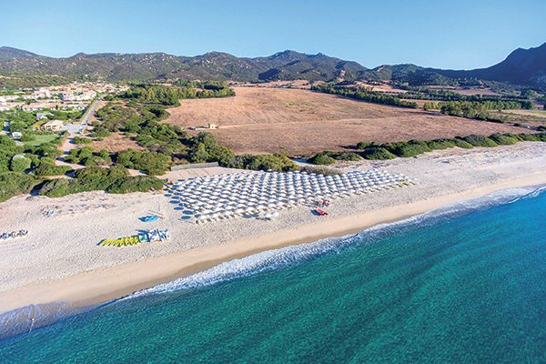
<path id="1" fill-rule="evenodd" d="M 296 264 L 308 259 L 318 258 L 331 251 L 347 248 L 354 244 L 366 244 L 380 238 L 387 238 L 394 234 L 404 233 L 415 227 L 433 225 L 442 220 L 508 204 L 525 197 L 536 197 L 544 190 L 546 190 L 546 187 L 504 189 L 493 192 L 486 197 L 460 200 L 404 220 L 369 227 L 355 235 L 341 238 L 325 238 L 312 243 L 267 250 L 245 258 L 221 263 L 216 267 L 209 268 L 185 278 L 177 278 L 152 288 L 140 290 L 125 298 L 120 298 L 118 301 L 147 295 L 175 292 L 189 288 L 207 287 L 236 278 L 248 277 L 266 270 L 287 267 L 291 264 Z"/>

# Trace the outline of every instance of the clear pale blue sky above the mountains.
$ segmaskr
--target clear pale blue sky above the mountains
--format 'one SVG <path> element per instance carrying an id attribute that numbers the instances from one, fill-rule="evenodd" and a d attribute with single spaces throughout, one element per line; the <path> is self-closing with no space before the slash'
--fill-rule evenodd
<path id="1" fill-rule="evenodd" d="M 546 1 L 6 1 L 0 45 L 43 56 L 286 49 L 375 67 L 491 66 L 546 42 Z"/>

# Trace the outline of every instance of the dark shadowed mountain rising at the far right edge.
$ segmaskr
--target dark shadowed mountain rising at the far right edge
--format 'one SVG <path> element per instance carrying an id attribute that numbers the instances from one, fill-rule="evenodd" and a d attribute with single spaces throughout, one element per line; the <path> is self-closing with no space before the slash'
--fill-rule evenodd
<path id="1" fill-rule="evenodd" d="M 515 85 L 546 86 L 546 43 L 541 46 L 518 48 L 501 63 L 470 71 L 435 69 L 434 72 L 451 78 L 479 78 Z"/>

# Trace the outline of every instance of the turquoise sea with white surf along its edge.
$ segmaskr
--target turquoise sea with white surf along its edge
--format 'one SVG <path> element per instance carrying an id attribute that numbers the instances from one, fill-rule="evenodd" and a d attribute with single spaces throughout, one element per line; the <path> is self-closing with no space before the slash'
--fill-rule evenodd
<path id="1" fill-rule="evenodd" d="M 262 253 L 0 341 L 2 362 L 544 363 L 546 193 Z"/>

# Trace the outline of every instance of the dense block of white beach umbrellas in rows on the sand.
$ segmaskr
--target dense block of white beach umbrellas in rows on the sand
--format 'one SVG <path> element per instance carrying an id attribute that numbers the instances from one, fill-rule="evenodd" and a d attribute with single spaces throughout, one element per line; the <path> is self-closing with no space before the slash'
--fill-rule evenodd
<path id="1" fill-rule="evenodd" d="M 179 180 L 174 187 L 180 203 L 192 210 L 199 223 L 413 183 L 400 174 L 370 169 L 334 176 L 298 171 L 243 172 Z M 275 216 L 266 218 L 271 217 Z"/>

